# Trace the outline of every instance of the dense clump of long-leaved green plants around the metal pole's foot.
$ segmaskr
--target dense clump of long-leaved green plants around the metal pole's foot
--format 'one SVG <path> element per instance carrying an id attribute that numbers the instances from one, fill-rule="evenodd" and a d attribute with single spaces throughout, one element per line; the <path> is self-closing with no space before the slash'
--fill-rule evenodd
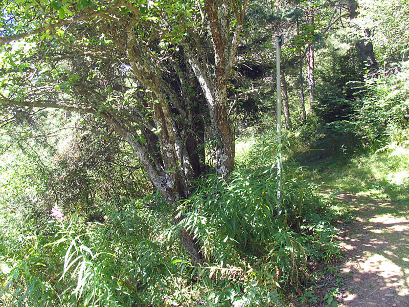
<path id="1" fill-rule="evenodd" d="M 183 204 L 182 211 L 193 209 L 179 226 L 192 232 L 205 255 L 219 265 L 245 259 L 263 264 L 261 271 L 271 274 L 267 279 L 277 274 L 283 285 L 298 285 L 307 255 L 317 261 L 337 255 L 330 248 L 332 217 L 316 187 L 302 179 L 301 169 L 287 166 L 282 200 L 277 199 L 277 168 L 266 163 L 266 156 L 274 161 L 272 152 L 274 146 L 266 146 L 253 157 L 258 164 L 234 172 L 229 181 L 209 178 Z"/>

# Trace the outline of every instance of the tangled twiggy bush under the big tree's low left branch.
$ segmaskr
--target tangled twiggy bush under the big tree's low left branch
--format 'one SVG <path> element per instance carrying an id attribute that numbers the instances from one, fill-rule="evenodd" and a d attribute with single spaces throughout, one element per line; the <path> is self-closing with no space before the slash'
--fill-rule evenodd
<path id="1" fill-rule="evenodd" d="M 90 221 L 106 202 L 151 190 L 129 145 L 100 121 L 85 130 L 87 120 L 41 110 L 0 128 L 0 206 L 27 211 L 38 224 L 55 204 Z"/>

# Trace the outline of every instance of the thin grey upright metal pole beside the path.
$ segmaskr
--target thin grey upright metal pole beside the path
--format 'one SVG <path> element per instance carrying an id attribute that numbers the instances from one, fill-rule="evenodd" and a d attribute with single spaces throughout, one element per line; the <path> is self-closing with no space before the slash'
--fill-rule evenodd
<path id="1" fill-rule="evenodd" d="M 277 177 L 278 189 L 277 199 L 281 199 L 281 179 L 282 179 L 282 159 L 281 159 L 281 54 L 280 47 L 283 43 L 283 35 L 276 36 L 276 74 L 277 74 Z M 281 213 L 281 206 L 278 206 L 278 214 Z"/>

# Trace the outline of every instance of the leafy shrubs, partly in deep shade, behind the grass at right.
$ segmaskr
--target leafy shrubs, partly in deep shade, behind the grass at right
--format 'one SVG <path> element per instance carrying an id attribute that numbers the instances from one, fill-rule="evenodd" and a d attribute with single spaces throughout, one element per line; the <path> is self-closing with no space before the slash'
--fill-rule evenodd
<path id="1" fill-rule="evenodd" d="M 397 73 L 385 68 L 377 78 L 368 78 L 354 99 L 347 100 L 329 86 L 319 92 L 315 115 L 289 135 L 293 152 L 301 154 L 300 161 L 349 157 L 358 150 L 404 141 L 402 131 L 409 119 L 407 62 L 394 71 Z"/>

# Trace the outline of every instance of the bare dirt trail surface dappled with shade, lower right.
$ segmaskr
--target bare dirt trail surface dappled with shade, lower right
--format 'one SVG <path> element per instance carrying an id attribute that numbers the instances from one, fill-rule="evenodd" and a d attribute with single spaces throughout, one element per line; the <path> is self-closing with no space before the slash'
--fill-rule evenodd
<path id="1" fill-rule="evenodd" d="M 407 203 L 339 194 L 357 221 L 339 234 L 346 257 L 339 264 L 345 283 L 342 307 L 409 307 L 409 208 Z"/>

